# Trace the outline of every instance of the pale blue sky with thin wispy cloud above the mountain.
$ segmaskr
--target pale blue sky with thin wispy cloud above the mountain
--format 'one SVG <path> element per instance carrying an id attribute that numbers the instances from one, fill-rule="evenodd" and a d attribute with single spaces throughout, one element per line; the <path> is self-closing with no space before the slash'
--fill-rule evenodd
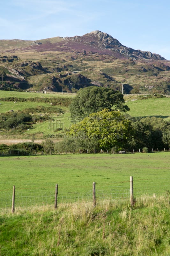
<path id="1" fill-rule="evenodd" d="M 39 40 L 106 32 L 170 60 L 169 0 L 5 0 L 0 39 Z"/>

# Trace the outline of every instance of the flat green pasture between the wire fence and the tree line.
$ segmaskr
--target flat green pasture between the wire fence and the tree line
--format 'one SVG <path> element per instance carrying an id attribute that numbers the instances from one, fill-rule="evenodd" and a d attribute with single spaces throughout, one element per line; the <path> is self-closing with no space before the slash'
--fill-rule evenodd
<path id="1" fill-rule="evenodd" d="M 16 186 L 17 206 L 53 204 L 55 184 L 58 202 L 129 198 L 129 177 L 134 196 L 164 195 L 169 190 L 170 152 L 136 154 L 63 154 L 0 158 L 0 207 L 10 207 Z"/>

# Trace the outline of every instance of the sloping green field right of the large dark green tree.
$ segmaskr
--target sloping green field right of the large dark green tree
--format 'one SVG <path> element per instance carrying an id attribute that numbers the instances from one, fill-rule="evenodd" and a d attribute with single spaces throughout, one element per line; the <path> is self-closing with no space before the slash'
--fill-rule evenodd
<path id="1" fill-rule="evenodd" d="M 156 116 L 164 118 L 164 120 L 170 120 L 170 98 L 139 100 L 134 96 L 134 99 L 127 101 L 126 105 L 130 108 L 130 111 L 128 111 L 130 116 Z"/>

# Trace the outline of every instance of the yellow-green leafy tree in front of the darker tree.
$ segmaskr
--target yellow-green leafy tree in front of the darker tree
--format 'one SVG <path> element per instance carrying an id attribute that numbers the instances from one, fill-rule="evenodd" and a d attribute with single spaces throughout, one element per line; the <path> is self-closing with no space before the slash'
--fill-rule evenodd
<path id="1" fill-rule="evenodd" d="M 80 131 L 87 136 L 85 139 L 98 140 L 101 149 L 116 147 L 120 150 L 131 136 L 131 125 L 120 111 L 103 109 L 90 114 L 78 124 L 72 124 L 69 134 L 77 136 Z"/>

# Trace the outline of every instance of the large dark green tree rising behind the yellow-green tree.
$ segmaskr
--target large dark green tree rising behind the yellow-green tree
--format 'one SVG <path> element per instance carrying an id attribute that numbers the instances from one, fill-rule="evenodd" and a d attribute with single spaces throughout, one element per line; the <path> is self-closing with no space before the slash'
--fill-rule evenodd
<path id="1" fill-rule="evenodd" d="M 71 119 L 82 120 L 91 113 L 101 111 L 104 108 L 111 110 L 129 110 L 124 105 L 123 95 L 111 88 L 90 86 L 80 89 L 70 104 Z"/>

